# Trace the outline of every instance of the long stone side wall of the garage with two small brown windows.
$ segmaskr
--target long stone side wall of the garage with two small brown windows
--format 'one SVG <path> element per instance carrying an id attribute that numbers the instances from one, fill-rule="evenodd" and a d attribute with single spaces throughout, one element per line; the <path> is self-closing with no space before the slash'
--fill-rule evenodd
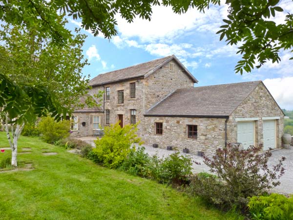
<path id="1" fill-rule="evenodd" d="M 145 117 L 142 139 L 147 145 L 157 143 L 159 148 L 178 148 L 181 152 L 188 148 L 191 154 L 198 151 L 213 154 L 225 146 L 225 118 L 183 118 Z M 155 134 L 155 122 L 163 123 L 163 134 Z M 197 125 L 197 139 L 187 137 L 187 125 Z"/>

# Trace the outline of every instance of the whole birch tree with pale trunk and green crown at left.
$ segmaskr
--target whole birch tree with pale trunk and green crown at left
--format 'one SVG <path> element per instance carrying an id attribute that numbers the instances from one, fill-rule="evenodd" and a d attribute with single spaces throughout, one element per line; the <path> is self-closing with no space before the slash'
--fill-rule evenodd
<path id="1" fill-rule="evenodd" d="M 24 124 L 48 112 L 59 120 L 79 106 L 79 97 L 86 93 L 88 79 L 82 77 L 82 69 L 87 62 L 81 49 L 85 36 L 76 31 L 66 45 L 60 46 L 43 38 L 37 29 L 2 25 L 0 107 L 14 166 Z M 91 96 L 87 97 L 88 103 L 93 103 Z"/>

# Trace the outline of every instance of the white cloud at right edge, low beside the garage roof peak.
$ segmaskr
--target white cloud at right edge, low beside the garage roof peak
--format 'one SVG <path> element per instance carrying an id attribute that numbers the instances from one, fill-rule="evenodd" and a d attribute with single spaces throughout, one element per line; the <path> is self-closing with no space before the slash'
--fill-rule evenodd
<path id="1" fill-rule="evenodd" d="M 293 110 L 293 76 L 263 82 L 282 109 Z"/>

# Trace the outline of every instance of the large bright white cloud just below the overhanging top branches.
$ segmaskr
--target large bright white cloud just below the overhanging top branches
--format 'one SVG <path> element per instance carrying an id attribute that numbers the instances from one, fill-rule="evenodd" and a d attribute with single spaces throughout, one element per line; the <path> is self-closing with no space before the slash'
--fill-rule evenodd
<path id="1" fill-rule="evenodd" d="M 215 33 L 227 16 L 228 5 L 211 6 L 206 13 L 189 9 L 185 14 L 175 14 L 171 7 L 153 6 L 151 21 L 135 18 L 132 23 L 117 16 L 122 38 L 138 37 L 141 42 L 171 43 L 173 39 L 191 30 Z"/>

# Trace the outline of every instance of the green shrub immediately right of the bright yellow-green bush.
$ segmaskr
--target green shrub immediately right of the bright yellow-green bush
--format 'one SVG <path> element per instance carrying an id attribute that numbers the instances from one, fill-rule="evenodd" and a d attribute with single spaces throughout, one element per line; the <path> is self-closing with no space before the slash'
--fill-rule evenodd
<path id="1" fill-rule="evenodd" d="M 120 170 L 136 176 L 149 177 L 149 162 L 150 157 L 145 153 L 144 147 L 137 150 L 132 149 L 122 163 Z"/>

